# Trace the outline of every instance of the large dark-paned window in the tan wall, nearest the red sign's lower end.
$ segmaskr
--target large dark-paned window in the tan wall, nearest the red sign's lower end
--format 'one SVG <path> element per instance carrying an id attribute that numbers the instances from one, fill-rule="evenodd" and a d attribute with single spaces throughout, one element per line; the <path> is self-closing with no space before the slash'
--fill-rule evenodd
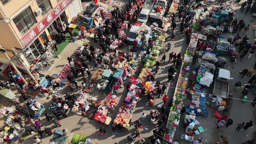
<path id="1" fill-rule="evenodd" d="M 18 16 L 13 18 L 13 22 L 15 23 L 18 31 L 21 35 L 25 34 L 35 23 L 36 19 L 30 9 L 23 10 Z"/>

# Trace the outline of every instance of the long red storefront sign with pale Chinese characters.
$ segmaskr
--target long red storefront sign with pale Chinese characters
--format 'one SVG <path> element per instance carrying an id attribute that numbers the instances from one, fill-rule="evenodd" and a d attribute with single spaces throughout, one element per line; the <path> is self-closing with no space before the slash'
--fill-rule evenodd
<path id="1" fill-rule="evenodd" d="M 50 11 L 45 18 L 43 18 L 40 22 L 37 23 L 35 27 L 33 27 L 29 32 L 24 35 L 21 40 L 25 46 L 34 40 L 46 27 L 48 27 L 55 18 L 59 17 L 60 14 L 64 11 L 64 9 L 72 2 L 73 0 L 62 0 L 60 4 L 58 4 L 54 9 Z"/>

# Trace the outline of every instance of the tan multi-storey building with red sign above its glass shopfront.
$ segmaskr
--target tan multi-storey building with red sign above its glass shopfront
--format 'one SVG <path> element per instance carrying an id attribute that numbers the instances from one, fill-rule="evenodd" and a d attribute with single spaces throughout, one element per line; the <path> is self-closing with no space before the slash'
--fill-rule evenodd
<path id="1" fill-rule="evenodd" d="M 29 69 L 46 52 L 56 28 L 68 26 L 81 11 L 81 0 L 0 0 L 0 45 L 10 57 L 9 50 L 18 52 Z M 0 63 L 9 63 L 4 54 Z"/>

